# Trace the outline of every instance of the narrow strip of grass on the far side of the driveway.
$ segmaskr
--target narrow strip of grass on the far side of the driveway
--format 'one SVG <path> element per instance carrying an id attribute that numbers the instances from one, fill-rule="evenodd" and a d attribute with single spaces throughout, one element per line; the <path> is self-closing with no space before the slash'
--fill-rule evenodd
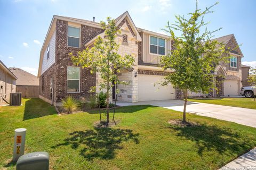
<path id="1" fill-rule="evenodd" d="M 188 99 L 199 103 L 209 103 L 215 105 L 234 106 L 256 109 L 256 101 L 253 98 L 222 98 L 222 99 Z"/>

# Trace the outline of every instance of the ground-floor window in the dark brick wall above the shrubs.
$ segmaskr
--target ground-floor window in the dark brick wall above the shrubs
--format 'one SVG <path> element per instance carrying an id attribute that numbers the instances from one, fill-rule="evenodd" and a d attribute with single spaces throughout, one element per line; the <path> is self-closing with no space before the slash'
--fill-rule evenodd
<path id="1" fill-rule="evenodd" d="M 67 91 L 79 92 L 80 91 L 80 68 L 68 67 L 67 69 Z"/>

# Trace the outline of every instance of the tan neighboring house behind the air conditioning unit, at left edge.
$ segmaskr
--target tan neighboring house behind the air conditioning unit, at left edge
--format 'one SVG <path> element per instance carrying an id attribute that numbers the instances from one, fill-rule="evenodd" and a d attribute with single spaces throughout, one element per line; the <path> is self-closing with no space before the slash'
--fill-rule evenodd
<path id="1" fill-rule="evenodd" d="M 0 106 L 10 100 L 10 93 L 16 91 L 17 77 L 0 60 Z"/>

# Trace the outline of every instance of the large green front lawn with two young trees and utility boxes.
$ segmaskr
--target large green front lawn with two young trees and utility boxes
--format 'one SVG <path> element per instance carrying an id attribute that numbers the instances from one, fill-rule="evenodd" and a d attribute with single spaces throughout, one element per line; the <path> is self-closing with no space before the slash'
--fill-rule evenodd
<path id="1" fill-rule="evenodd" d="M 256 146 L 254 128 L 193 114 L 199 125 L 180 128 L 167 122 L 182 114 L 161 107 L 118 108 L 121 122 L 99 129 L 96 111 L 58 116 L 40 99 L 22 104 L 0 109 L 0 169 L 15 168 L 16 128 L 27 129 L 27 153 L 49 152 L 51 169 L 218 169 Z"/>

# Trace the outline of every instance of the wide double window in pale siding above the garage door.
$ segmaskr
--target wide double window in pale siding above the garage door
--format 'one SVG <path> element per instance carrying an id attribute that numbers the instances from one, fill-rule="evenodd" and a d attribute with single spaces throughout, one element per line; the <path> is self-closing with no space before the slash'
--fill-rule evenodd
<path id="1" fill-rule="evenodd" d="M 150 36 L 150 53 L 165 55 L 165 39 Z"/>

